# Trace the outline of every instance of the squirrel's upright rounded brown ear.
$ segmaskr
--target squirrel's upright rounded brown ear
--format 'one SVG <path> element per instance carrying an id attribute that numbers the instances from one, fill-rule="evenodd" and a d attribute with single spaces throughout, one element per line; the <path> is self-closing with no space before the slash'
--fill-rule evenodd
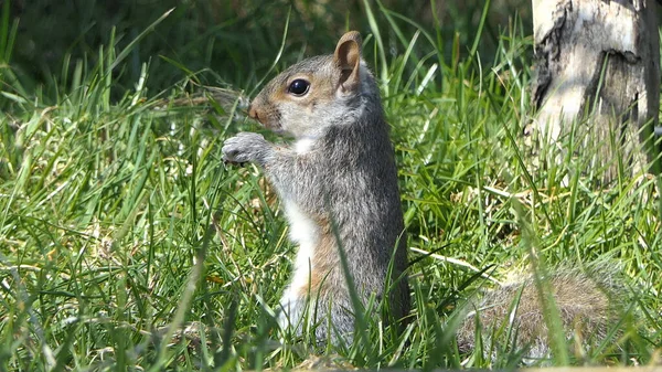
<path id="1" fill-rule="evenodd" d="M 361 43 L 361 34 L 356 31 L 350 31 L 340 38 L 338 46 L 335 46 L 333 61 L 340 70 L 338 88 L 342 92 L 355 91 L 361 84 L 361 77 L 359 76 Z"/>

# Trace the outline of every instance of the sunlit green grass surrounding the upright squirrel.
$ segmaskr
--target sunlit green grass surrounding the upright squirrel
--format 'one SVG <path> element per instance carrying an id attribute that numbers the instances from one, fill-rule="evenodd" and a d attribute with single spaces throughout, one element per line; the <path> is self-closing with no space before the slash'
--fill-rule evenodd
<path id="1" fill-rule="evenodd" d="M 615 280 L 628 288 L 636 318 L 622 350 L 604 344 L 547 363 L 651 363 L 662 344 L 655 177 L 600 187 L 590 153 L 557 162 L 552 148 L 526 144 L 531 36 L 521 22 L 492 40 L 493 55 L 481 55 L 481 18 L 477 38 L 456 38 L 449 55 L 440 29 L 364 7 L 372 8 L 361 31 L 393 126 L 408 246 L 501 279 L 532 257 L 551 269 L 618 265 Z M 0 370 L 314 363 L 318 351 L 278 332 L 274 318 L 295 251 L 278 201 L 256 168 L 221 161 L 225 138 L 261 130 L 245 118 L 238 93 L 255 81 L 211 89 L 209 72 L 172 60 L 182 77 L 169 88 L 150 91 L 159 71 L 147 62 L 130 88 L 118 88 L 115 72 L 137 43 L 120 47 L 110 35 L 54 74 L 57 84 L 28 91 L 11 67 L 12 24 L 4 18 L 0 33 Z M 324 36 L 329 52 L 337 36 Z M 298 55 L 285 50 L 288 60 Z M 415 251 L 409 258 L 415 308 L 404 336 L 372 325 L 366 341 L 324 350 L 331 357 L 318 363 L 521 363 L 512 344 L 484 346 L 493 358 L 458 352 L 452 316 L 483 285 L 474 270 Z"/>

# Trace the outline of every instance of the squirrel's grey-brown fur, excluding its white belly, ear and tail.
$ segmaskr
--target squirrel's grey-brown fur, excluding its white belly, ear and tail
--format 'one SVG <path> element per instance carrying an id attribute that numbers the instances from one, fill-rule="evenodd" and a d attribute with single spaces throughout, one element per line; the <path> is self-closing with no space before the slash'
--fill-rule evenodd
<path id="1" fill-rule="evenodd" d="M 229 162 L 257 163 L 282 200 L 292 201 L 308 216 L 333 221 L 364 306 L 371 296 L 383 299 L 396 249 L 389 281 L 398 284 L 387 301 L 399 320 L 409 310 L 409 290 L 403 274 L 407 257 L 397 170 L 376 83 L 363 62 L 360 73 L 360 88 L 339 93 L 341 72 L 333 55 L 317 56 L 282 72 L 254 99 L 260 110 L 252 115 L 271 129 L 296 139 L 314 138 L 309 151 L 299 153 L 244 132 L 225 141 L 223 155 Z M 323 82 L 311 86 L 317 91 L 311 91 L 306 106 L 297 99 L 276 99 L 299 75 Z M 329 231 L 328 225 L 319 228 Z M 325 264 L 324 289 L 310 297 L 313 306 L 308 309 L 318 323 L 316 337 L 338 340 L 328 327 L 330 320 L 343 340 L 352 342 L 353 307 L 337 249 Z M 289 304 L 292 323 L 307 304 L 303 297 Z M 373 309 L 367 316 L 378 313 Z"/>

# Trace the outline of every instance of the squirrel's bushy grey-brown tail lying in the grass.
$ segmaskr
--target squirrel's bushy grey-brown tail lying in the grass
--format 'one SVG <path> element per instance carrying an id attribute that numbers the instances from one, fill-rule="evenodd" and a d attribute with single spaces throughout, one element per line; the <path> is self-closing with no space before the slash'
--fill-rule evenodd
<path id="1" fill-rule="evenodd" d="M 560 267 L 540 278 L 551 290 L 566 340 L 579 341 L 583 348 L 596 347 L 607 340 L 622 319 L 624 309 L 621 297 L 627 289 L 613 280 L 615 275 L 605 273 L 605 268 L 598 276 Z M 510 336 L 519 350 L 525 350 L 524 363 L 549 358 L 547 315 L 535 280 L 534 276 L 528 276 L 470 299 L 466 310 L 471 311 L 465 310 L 466 318 L 457 332 L 459 351 L 467 353 L 476 348 L 478 320 L 483 350 L 492 350 L 494 342 L 502 347 L 511 344 L 512 339 L 505 339 Z"/>

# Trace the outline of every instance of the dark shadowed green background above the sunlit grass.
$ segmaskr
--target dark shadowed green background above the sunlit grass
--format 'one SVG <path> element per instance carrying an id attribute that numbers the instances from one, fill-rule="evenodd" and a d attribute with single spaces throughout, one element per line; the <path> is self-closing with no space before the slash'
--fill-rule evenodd
<path id="1" fill-rule="evenodd" d="M 468 45 L 474 39 L 484 7 L 483 0 L 467 1 L 393 1 L 372 3 L 373 11 L 385 7 L 394 17 L 404 15 L 424 30 L 440 30 L 441 50 L 448 61 L 452 41 Z M 14 0 L 10 14 L 18 21 L 18 35 L 11 61 L 25 91 L 42 85 L 53 87 L 62 75 L 63 64 L 72 67 L 77 60 L 96 61 L 102 45 L 108 45 L 115 32 L 116 47 L 121 50 L 169 9 L 174 11 L 131 51 L 119 68 L 115 88 L 136 84 L 142 63 L 149 63 L 148 87 L 162 89 L 184 76 L 181 66 L 199 72 L 206 84 L 229 83 L 248 86 L 255 76 L 267 72 L 274 62 L 286 29 L 289 28 L 284 57 L 279 66 L 305 55 L 329 53 L 337 38 L 346 29 L 369 32 L 363 1 L 261 1 L 261 0 Z M 375 11 L 377 20 L 384 14 Z M 496 47 L 500 29 L 509 19 L 521 17 L 531 30 L 531 2 L 496 0 L 491 3 L 485 34 L 479 51 L 489 62 Z M 438 22 L 436 24 L 436 22 Z M 405 34 L 415 28 L 401 22 Z M 439 28 L 435 28 L 439 25 Z M 391 53 L 402 53 L 393 31 L 383 38 Z M 466 53 L 468 46 L 458 51 Z M 367 51 L 369 55 L 371 51 Z M 162 56 L 177 62 L 168 62 Z M 247 64 L 248 63 L 248 64 Z M 117 92 L 116 92 L 117 94 Z"/>

